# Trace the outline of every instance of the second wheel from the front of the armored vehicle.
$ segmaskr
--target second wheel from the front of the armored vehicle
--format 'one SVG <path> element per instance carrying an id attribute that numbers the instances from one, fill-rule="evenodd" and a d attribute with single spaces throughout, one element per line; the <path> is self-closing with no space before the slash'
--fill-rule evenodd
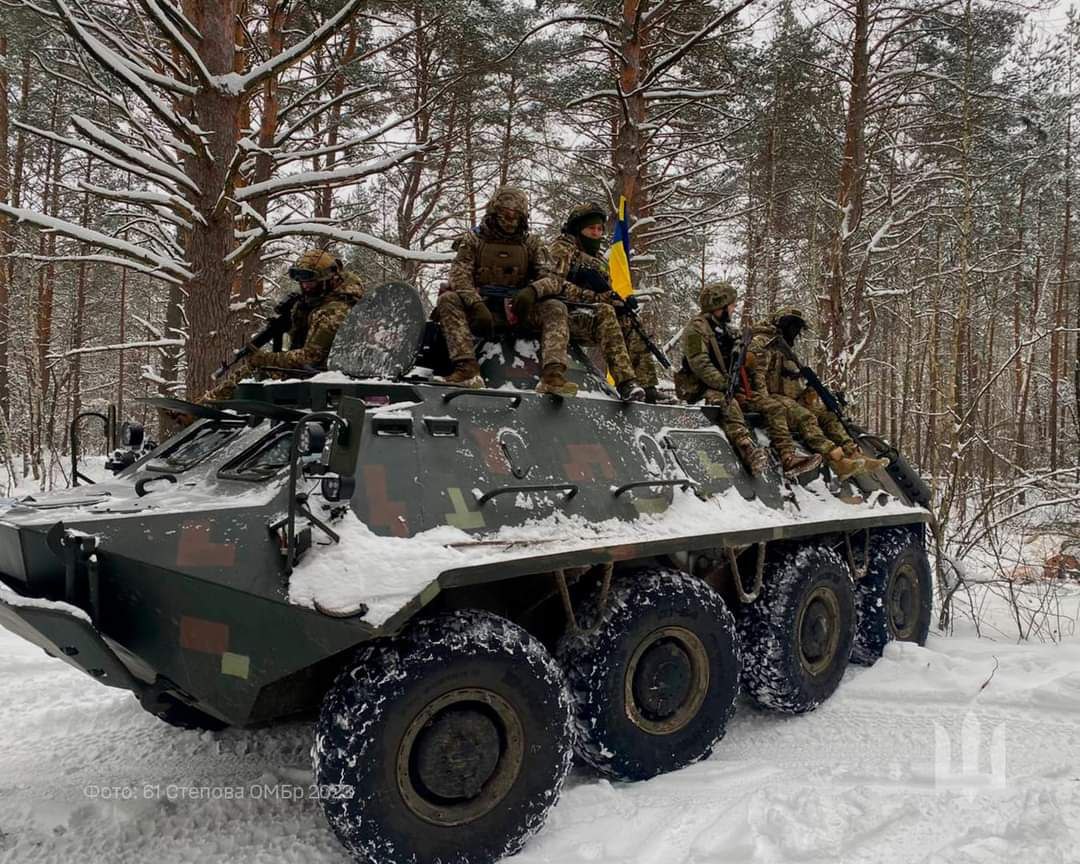
<path id="1" fill-rule="evenodd" d="M 674 570 L 638 570 L 578 611 L 556 656 L 570 685 L 578 755 L 607 777 L 645 780 L 707 756 L 739 692 L 734 619 Z"/>

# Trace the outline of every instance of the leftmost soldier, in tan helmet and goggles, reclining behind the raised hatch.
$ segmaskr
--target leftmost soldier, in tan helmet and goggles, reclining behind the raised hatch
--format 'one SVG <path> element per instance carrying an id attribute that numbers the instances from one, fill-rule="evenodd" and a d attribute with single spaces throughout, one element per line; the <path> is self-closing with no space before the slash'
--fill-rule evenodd
<path id="1" fill-rule="evenodd" d="M 203 394 L 200 402 L 230 399 L 243 378 L 274 377 L 268 368 L 323 368 L 338 327 L 353 305 L 364 296 L 360 278 L 345 270 L 340 259 L 324 249 L 305 252 L 289 268 L 288 276 L 300 285 L 300 299 L 293 306 L 287 351 L 253 351 L 227 378 Z"/>

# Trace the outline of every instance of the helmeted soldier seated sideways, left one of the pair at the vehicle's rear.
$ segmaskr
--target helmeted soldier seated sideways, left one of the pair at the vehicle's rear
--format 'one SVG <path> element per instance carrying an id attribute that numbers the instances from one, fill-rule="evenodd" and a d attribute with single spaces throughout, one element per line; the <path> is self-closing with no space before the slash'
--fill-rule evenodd
<path id="1" fill-rule="evenodd" d="M 737 400 L 728 399 L 731 357 L 738 333 L 731 326 L 738 294 L 730 282 L 714 282 L 702 288 L 701 313 L 690 319 L 683 330 L 683 368 L 675 376 L 679 399 L 720 409 L 720 428 L 754 475 L 768 464 L 766 451 L 754 444 L 750 428 Z M 766 430 L 780 453 L 784 473 L 801 474 L 821 464 L 821 457 L 799 456 L 784 422 L 783 409 L 760 400 L 757 409 L 765 418 Z"/>

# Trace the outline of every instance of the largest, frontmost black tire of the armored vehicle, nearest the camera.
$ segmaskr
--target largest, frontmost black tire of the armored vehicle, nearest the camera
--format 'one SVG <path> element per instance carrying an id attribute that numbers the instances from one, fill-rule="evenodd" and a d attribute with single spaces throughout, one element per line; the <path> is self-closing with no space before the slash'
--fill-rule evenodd
<path id="1" fill-rule="evenodd" d="M 505 619 L 463 610 L 361 648 L 323 701 L 323 809 L 360 861 L 487 864 L 516 852 L 572 761 L 563 673 Z"/>

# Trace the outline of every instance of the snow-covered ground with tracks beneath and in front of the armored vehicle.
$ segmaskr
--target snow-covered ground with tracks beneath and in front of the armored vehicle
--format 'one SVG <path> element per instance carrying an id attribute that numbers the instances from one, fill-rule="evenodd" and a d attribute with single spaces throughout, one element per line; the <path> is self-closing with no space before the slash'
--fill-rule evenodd
<path id="1" fill-rule="evenodd" d="M 1075 620 L 1080 591 L 1064 599 Z M 0 630 L 5 864 L 345 862 L 318 802 L 286 797 L 308 747 L 301 724 L 174 730 Z M 227 789 L 245 797 L 199 797 Z M 852 667 L 814 714 L 741 704 L 697 766 L 634 785 L 576 771 L 514 861 L 1076 864 L 1080 637 L 934 636 Z"/>

